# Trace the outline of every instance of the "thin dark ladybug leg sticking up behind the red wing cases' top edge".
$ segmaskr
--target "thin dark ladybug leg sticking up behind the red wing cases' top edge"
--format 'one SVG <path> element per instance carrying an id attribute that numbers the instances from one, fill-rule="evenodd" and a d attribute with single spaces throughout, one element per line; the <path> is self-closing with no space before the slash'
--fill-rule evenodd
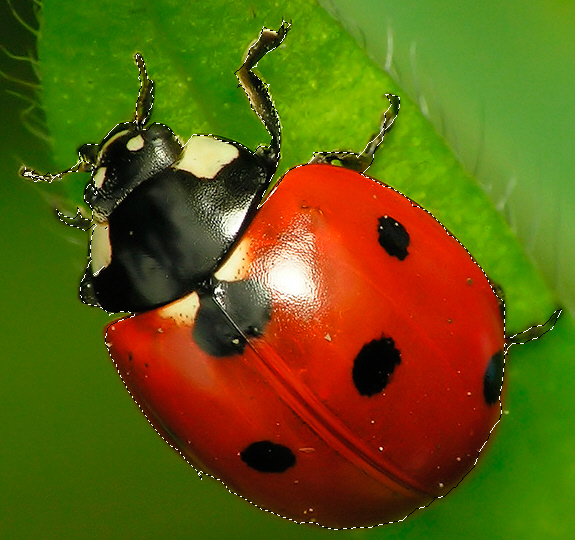
<path id="1" fill-rule="evenodd" d="M 373 163 L 373 158 L 375 156 L 375 151 L 379 145 L 383 142 L 385 134 L 391 129 L 394 120 L 397 118 L 399 112 L 399 97 L 393 94 L 385 94 L 385 97 L 389 100 L 389 107 L 383 113 L 381 118 L 381 124 L 379 127 L 379 133 L 373 137 L 371 141 L 367 143 L 361 154 L 355 154 L 354 152 L 318 152 L 314 153 L 310 160 L 310 163 L 327 163 L 333 164 L 333 162 L 339 162 L 342 167 L 346 169 L 351 169 L 353 171 L 365 172 L 369 166 Z"/>

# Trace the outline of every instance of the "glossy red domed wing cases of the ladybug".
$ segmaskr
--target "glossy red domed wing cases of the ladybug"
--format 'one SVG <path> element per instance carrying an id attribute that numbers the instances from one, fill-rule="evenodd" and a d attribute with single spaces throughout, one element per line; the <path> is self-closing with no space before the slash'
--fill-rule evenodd
<path id="1" fill-rule="evenodd" d="M 501 416 L 501 377 L 486 373 L 503 368 L 504 321 L 484 272 L 426 210 L 360 173 L 297 167 L 216 277 L 271 299 L 241 354 L 196 343 L 197 293 L 106 333 L 132 397 L 199 470 L 261 508 L 342 528 L 402 519 L 474 466 Z M 291 454 L 284 470 L 250 463 L 262 441 L 260 454 Z"/>

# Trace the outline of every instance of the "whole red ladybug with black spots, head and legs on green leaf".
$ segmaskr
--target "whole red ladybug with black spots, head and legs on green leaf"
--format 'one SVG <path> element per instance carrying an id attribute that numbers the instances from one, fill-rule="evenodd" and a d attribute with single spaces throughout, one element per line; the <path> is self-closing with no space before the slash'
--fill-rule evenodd
<path id="1" fill-rule="evenodd" d="M 262 30 L 237 76 L 271 136 L 255 152 L 213 135 L 185 145 L 136 112 L 51 181 L 88 171 L 83 302 L 130 312 L 111 358 L 157 432 L 258 507 L 331 528 L 403 519 L 473 468 L 501 416 L 503 302 L 429 212 L 364 171 L 315 154 L 272 184 L 280 122 L 257 62 L 289 25 Z"/>

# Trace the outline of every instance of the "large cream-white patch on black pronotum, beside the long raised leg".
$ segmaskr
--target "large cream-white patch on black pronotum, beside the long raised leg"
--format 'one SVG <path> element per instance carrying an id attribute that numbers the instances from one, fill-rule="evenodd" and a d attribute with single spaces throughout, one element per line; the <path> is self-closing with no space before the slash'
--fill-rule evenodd
<path id="1" fill-rule="evenodd" d="M 231 143 L 214 137 L 194 135 L 184 146 L 182 157 L 174 167 L 198 178 L 214 178 L 239 155 L 239 150 Z"/>

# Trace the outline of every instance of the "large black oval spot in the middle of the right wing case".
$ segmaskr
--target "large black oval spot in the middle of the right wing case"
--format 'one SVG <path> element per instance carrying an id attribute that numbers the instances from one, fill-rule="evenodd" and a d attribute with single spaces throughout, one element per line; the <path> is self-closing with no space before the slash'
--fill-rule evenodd
<path id="1" fill-rule="evenodd" d="M 362 396 L 379 394 L 389 383 L 401 353 L 393 339 L 381 337 L 366 343 L 353 363 L 353 384 Z"/>

